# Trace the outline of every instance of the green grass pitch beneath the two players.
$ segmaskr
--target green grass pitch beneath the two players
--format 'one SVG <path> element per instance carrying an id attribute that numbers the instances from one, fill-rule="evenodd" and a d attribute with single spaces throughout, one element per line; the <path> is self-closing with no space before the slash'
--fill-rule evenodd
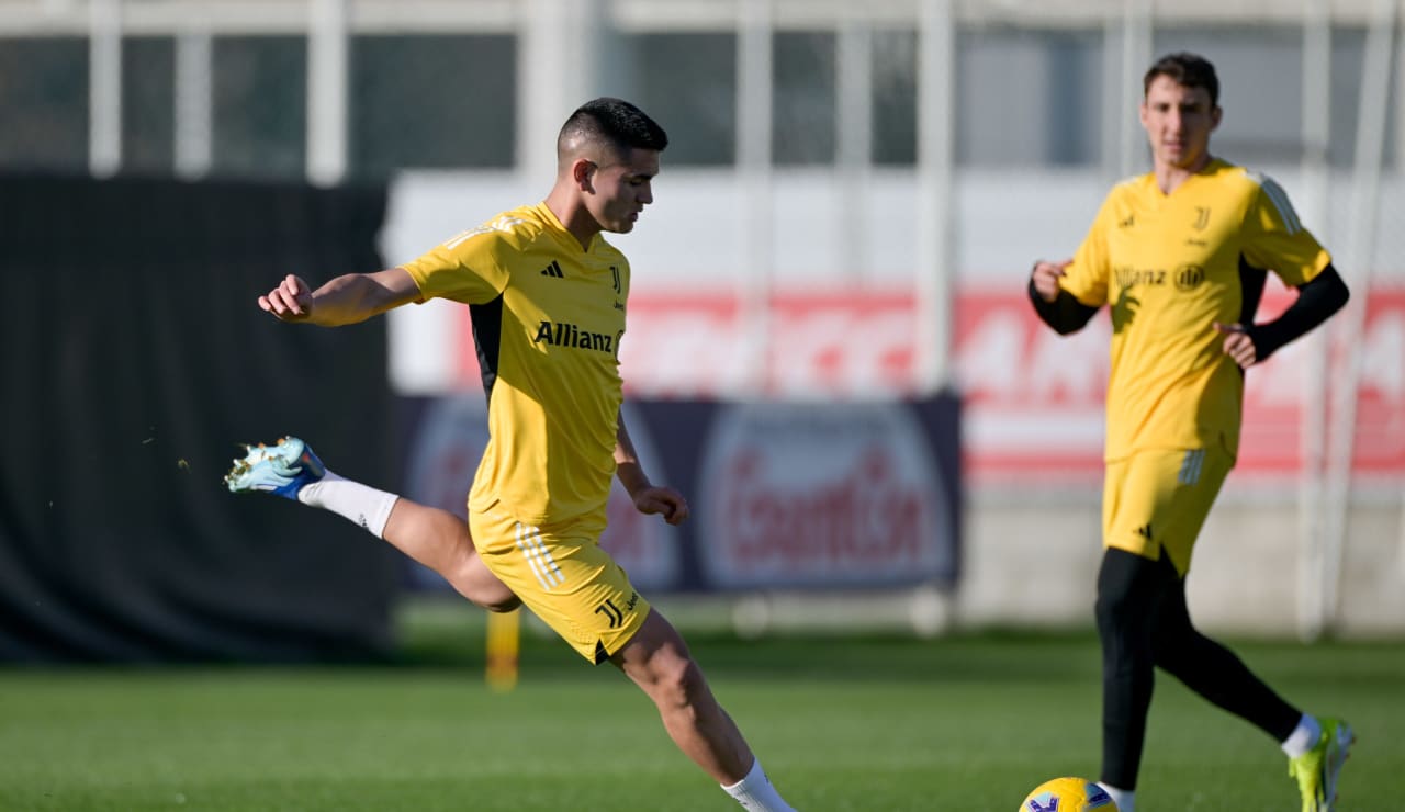
<path id="1" fill-rule="evenodd" d="M 613 667 L 524 639 L 488 691 L 481 615 L 412 638 L 405 662 L 325 669 L 0 669 L 6 811 L 725 811 Z M 722 704 L 802 811 L 1014 812 L 1061 774 L 1096 777 L 1090 634 L 690 635 Z M 1405 792 L 1405 643 L 1234 642 L 1291 701 L 1359 742 L 1339 808 Z M 1277 746 L 1158 679 L 1138 806 L 1283 812 Z"/>

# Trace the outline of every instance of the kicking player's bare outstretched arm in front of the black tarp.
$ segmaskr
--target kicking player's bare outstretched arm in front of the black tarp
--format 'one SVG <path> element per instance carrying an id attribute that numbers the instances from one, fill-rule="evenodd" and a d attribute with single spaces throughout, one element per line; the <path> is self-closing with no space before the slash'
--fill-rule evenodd
<path id="1" fill-rule="evenodd" d="M 288 274 L 278 287 L 259 296 L 259 308 L 281 322 L 306 322 L 337 327 L 419 299 L 420 289 L 405 268 L 374 274 L 344 274 L 318 289 Z"/>

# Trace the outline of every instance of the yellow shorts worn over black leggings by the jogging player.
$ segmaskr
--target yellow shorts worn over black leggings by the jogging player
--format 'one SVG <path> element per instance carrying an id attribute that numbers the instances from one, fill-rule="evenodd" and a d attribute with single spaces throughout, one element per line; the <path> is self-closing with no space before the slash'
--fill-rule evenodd
<path id="1" fill-rule="evenodd" d="M 1220 447 L 1152 448 L 1109 462 L 1103 545 L 1152 561 L 1165 549 L 1184 577 L 1196 537 L 1231 468 L 1234 459 Z"/>

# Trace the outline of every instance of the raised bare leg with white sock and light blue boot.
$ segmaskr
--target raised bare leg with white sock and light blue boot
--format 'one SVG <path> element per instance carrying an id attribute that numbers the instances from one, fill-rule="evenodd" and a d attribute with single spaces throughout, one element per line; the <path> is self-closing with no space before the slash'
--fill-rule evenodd
<path id="1" fill-rule="evenodd" d="M 490 611 L 521 601 L 483 566 L 468 523 L 447 510 L 337 476 L 306 443 L 284 437 L 250 445 L 225 476 L 235 493 L 264 492 L 330 510 L 440 573 L 459 594 Z"/>

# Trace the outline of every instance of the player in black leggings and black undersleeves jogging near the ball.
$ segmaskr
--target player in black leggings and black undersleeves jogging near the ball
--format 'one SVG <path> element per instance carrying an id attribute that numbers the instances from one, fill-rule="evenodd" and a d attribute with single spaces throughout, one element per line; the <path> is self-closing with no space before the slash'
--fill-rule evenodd
<path id="1" fill-rule="evenodd" d="M 1191 53 L 1144 79 L 1152 171 L 1116 185 L 1071 260 L 1034 264 L 1028 292 L 1061 334 L 1111 310 L 1103 563 L 1100 784 L 1132 812 L 1156 667 L 1281 743 L 1304 812 L 1331 811 L 1350 726 L 1280 698 L 1186 607 L 1191 549 L 1239 447 L 1245 371 L 1347 301 L 1332 257 L 1273 180 L 1210 155 L 1214 66 Z M 1297 289 L 1255 323 L 1267 271 Z"/>

